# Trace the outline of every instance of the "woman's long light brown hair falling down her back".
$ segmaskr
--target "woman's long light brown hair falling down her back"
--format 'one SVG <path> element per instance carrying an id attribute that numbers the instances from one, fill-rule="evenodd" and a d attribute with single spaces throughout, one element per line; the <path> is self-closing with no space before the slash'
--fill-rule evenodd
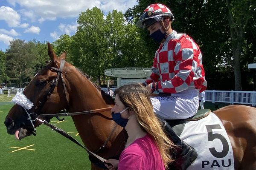
<path id="1" fill-rule="evenodd" d="M 118 94 L 119 99 L 125 106 L 128 106 L 136 113 L 140 126 L 153 137 L 163 163 L 167 168 L 168 164 L 174 161 L 170 155 L 170 150 L 175 145 L 166 136 L 154 114 L 150 93 L 142 85 L 133 83 L 116 89 L 115 94 Z"/>

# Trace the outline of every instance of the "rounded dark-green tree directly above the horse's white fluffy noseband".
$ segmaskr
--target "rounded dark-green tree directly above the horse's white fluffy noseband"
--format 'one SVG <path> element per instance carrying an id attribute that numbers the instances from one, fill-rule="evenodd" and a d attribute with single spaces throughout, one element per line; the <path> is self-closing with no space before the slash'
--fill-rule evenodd
<path id="1" fill-rule="evenodd" d="M 10 42 L 6 50 L 6 74 L 10 80 L 22 87 L 23 82 L 29 82 L 34 76 L 33 64 L 35 50 L 25 40 Z"/>

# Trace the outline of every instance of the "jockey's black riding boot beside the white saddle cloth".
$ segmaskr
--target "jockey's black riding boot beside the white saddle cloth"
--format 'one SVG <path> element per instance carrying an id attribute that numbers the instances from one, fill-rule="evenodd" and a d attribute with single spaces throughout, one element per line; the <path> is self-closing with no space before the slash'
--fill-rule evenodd
<path id="1" fill-rule="evenodd" d="M 186 142 L 180 139 L 180 137 L 172 130 L 169 123 L 167 123 L 160 116 L 158 117 L 160 118 L 160 121 L 163 122 L 163 128 L 166 135 L 169 137 L 169 139 L 172 139 L 172 142 L 175 145 L 178 146 L 175 152 L 175 161 L 168 166 L 169 170 L 186 170 L 197 158 L 197 152 L 193 147 L 189 146 L 186 144 Z"/>

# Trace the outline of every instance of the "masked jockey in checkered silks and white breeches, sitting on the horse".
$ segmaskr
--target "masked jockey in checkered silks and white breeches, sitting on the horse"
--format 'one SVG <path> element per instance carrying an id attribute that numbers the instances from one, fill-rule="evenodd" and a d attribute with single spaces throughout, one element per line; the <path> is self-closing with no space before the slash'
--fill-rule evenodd
<path id="1" fill-rule="evenodd" d="M 170 94 L 151 98 L 155 113 L 164 119 L 186 119 L 197 112 L 199 91 L 206 89 L 207 82 L 198 45 L 188 35 L 172 30 L 173 20 L 170 9 L 157 3 L 148 6 L 137 23 L 137 27 L 147 29 L 149 36 L 160 43 L 152 74 L 143 84 L 150 92 Z M 175 166 L 186 169 L 195 161 L 197 153 L 170 126 L 167 131 L 181 149 L 176 153 L 179 163 Z"/>

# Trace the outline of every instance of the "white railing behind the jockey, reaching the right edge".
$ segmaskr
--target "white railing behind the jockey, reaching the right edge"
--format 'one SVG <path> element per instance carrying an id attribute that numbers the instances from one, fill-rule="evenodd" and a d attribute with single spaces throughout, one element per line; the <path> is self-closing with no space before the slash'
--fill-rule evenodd
<path id="1" fill-rule="evenodd" d="M 256 91 L 205 91 L 205 101 L 256 106 Z"/>

